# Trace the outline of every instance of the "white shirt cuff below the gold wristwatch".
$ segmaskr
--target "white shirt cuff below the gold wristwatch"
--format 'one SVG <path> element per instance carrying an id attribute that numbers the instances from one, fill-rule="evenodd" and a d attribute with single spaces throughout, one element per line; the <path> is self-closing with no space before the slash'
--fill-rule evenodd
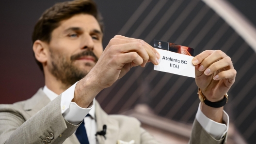
<path id="1" fill-rule="evenodd" d="M 229 117 L 227 113 L 223 110 L 223 121 L 226 123 L 218 123 L 214 120 L 209 119 L 200 109 L 201 102 L 199 104 L 197 113 L 196 113 L 196 120 L 200 123 L 200 125 L 216 140 L 220 140 L 224 137 L 228 130 L 229 125 Z"/>

